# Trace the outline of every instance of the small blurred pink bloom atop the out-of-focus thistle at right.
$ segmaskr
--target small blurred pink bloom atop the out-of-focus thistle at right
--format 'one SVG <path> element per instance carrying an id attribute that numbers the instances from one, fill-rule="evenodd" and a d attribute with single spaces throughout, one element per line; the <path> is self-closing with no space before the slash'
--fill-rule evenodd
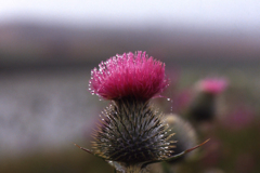
<path id="1" fill-rule="evenodd" d="M 197 82 L 196 89 L 212 95 L 220 94 L 229 85 L 224 78 L 207 78 Z"/>

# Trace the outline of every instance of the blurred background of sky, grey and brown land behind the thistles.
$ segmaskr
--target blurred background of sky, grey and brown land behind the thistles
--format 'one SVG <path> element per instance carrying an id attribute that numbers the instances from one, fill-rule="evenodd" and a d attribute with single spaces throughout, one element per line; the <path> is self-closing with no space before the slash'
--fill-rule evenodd
<path id="1" fill-rule="evenodd" d="M 90 70 L 141 50 L 166 63 L 164 112 L 180 112 L 202 78 L 230 83 L 219 117 L 202 128 L 205 154 L 179 172 L 259 173 L 259 9 L 257 0 L 2 0 L 0 172 L 112 172 L 73 145 L 91 145 L 108 104 L 89 93 Z"/>

